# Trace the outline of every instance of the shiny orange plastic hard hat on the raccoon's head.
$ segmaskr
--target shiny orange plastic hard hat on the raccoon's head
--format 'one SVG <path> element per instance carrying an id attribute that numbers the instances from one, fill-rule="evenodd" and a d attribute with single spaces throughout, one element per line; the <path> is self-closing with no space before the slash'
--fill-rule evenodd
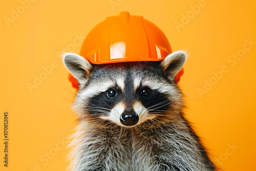
<path id="1" fill-rule="evenodd" d="M 159 61 L 169 53 L 172 49 L 162 30 L 142 16 L 130 15 L 129 12 L 106 17 L 89 32 L 80 50 L 81 56 L 96 65 Z M 79 84 L 71 74 L 69 80 L 78 89 Z"/>

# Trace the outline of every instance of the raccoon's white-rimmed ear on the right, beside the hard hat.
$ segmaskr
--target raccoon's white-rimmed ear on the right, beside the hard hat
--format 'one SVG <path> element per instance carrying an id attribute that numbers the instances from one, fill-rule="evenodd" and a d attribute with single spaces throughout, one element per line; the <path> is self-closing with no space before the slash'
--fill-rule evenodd
<path id="1" fill-rule="evenodd" d="M 174 80 L 177 73 L 181 70 L 186 60 L 186 54 L 183 51 L 176 51 L 166 56 L 161 61 L 164 74 Z"/>

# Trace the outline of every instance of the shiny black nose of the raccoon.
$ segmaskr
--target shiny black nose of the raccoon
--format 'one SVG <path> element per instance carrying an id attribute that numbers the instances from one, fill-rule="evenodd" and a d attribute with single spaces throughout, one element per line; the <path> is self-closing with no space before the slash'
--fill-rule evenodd
<path id="1" fill-rule="evenodd" d="M 120 116 L 120 121 L 125 126 L 133 126 L 139 121 L 139 115 L 132 109 L 126 109 Z"/>

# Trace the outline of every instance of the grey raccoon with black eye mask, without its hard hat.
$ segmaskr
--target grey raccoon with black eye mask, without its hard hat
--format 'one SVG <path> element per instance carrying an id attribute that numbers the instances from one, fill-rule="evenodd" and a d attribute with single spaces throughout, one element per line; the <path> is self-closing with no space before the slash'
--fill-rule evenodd
<path id="1" fill-rule="evenodd" d="M 63 55 L 79 83 L 72 170 L 216 170 L 183 116 L 174 79 L 185 59 L 176 51 L 161 61 L 93 65 L 77 54 Z"/>

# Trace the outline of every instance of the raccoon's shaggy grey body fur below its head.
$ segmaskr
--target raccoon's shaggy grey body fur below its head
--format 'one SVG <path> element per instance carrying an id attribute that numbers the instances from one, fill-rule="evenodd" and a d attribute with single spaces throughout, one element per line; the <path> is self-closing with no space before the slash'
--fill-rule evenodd
<path id="1" fill-rule="evenodd" d="M 195 143 L 197 137 L 185 131 L 185 122 L 153 129 L 95 129 L 84 124 L 78 129 L 76 171 L 212 170 L 203 148 Z"/>

